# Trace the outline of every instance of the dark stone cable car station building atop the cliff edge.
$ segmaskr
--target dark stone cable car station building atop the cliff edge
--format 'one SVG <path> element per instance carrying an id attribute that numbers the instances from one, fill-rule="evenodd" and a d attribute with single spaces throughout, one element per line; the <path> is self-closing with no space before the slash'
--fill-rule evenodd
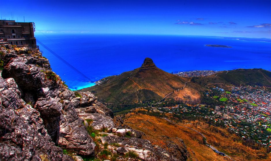
<path id="1" fill-rule="evenodd" d="M 0 20 L 0 39 L 11 45 L 38 48 L 34 37 L 34 22 L 15 22 L 15 20 Z"/>

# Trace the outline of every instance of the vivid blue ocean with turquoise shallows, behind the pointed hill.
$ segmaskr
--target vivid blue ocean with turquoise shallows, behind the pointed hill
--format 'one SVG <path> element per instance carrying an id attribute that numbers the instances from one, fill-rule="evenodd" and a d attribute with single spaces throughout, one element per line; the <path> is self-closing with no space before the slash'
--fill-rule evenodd
<path id="1" fill-rule="evenodd" d="M 266 42 L 269 39 L 67 33 L 35 33 L 35 37 L 88 77 L 37 44 L 52 70 L 71 90 L 90 87 L 106 76 L 139 68 L 146 57 L 170 73 L 237 68 L 271 70 L 271 43 Z M 232 48 L 204 46 L 206 44 Z"/>

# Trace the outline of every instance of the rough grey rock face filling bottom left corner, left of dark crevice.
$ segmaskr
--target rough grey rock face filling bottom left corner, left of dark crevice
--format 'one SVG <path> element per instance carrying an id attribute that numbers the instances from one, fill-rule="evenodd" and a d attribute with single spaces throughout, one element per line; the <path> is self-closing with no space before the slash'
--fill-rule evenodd
<path id="1" fill-rule="evenodd" d="M 40 114 L 20 98 L 12 78 L 0 76 L 0 158 L 3 161 L 72 161 L 51 141 Z"/>

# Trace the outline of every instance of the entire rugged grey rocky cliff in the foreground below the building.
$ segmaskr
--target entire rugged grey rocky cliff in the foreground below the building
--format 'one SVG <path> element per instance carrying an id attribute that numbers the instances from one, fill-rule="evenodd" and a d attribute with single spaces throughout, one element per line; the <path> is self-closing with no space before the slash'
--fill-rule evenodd
<path id="1" fill-rule="evenodd" d="M 131 151 L 145 160 L 176 160 L 140 139 L 139 131 L 115 128 L 112 110 L 90 92 L 70 91 L 38 50 L 0 42 L 0 60 L 1 160 L 70 161 L 116 155 L 133 160 L 126 155 Z M 101 154 L 106 142 L 112 143 L 109 156 Z"/>

